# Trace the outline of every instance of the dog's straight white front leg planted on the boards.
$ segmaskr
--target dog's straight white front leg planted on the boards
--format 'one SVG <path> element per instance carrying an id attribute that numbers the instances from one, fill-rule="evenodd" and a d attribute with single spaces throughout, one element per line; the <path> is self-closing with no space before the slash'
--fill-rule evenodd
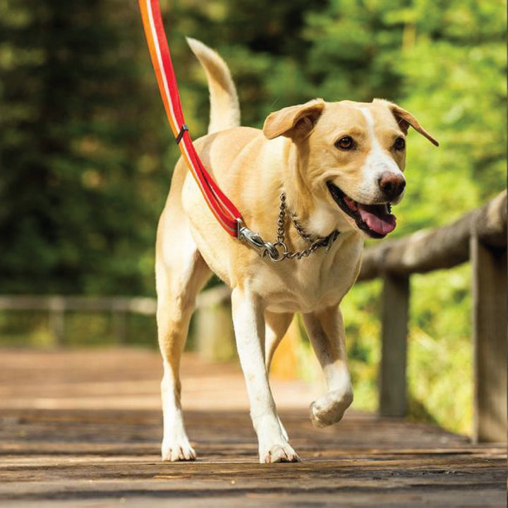
<path id="1" fill-rule="evenodd" d="M 296 462 L 284 437 L 265 366 L 265 317 L 260 298 L 235 288 L 231 294 L 236 347 L 245 376 L 250 416 L 258 434 L 260 462 Z"/>

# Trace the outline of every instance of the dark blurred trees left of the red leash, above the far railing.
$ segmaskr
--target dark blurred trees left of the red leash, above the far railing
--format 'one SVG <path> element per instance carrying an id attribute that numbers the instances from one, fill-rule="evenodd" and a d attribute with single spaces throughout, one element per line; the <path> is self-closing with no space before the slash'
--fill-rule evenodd
<path id="1" fill-rule="evenodd" d="M 165 131 L 137 11 L 0 6 L 1 291 L 146 292 Z"/>

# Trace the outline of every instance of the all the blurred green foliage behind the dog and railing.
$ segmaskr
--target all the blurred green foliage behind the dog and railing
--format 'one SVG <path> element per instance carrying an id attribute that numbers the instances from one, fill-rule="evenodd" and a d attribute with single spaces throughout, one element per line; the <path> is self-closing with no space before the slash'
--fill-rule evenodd
<path id="1" fill-rule="evenodd" d="M 313 97 L 384 97 L 413 112 L 441 147 L 410 133 L 393 236 L 451 222 L 504 188 L 505 1 L 161 5 L 193 137 L 206 132 L 208 94 L 185 35 L 229 62 L 246 125 Z M 1 292 L 154 294 L 157 217 L 178 150 L 135 2 L 0 0 L 0 111 Z M 468 268 L 412 286 L 411 411 L 465 431 Z M 379 282 L 359 284 L 342 306 L 364 409 L 377 404 L 379 294 Z M 26 320 L 30 337 L 47 344 L 40 319 Z M 80 330 L 71 318 L 76 337 L 112 340 L 108 320 L 88 321 Z M 145 324 L 131 325 L 146 337 Z M 0 326 L 16 337 L 13 322 Z M 308 343 L 298 354 L 308 357 Z"/>

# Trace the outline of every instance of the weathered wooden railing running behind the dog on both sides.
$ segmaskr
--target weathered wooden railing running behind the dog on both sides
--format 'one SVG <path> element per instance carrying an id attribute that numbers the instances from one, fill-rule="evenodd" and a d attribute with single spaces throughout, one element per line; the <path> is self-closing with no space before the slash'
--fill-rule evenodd
<path id="1" fill-rule="evenodd" d="M 381 277 L 382 359 L 380 413 L 406 413 L 406 341 L 409 277 L 471 260 L 473 272 L 474 428 L 477 441 L 506 440 L 507 424 L 507 194 L 437 229 L 418 231 L 365 250 L 359 281 Z M 198 349 L 207 358 L 227 358 L 234 348 L 230 291 L 217 286 L 198 296 Z M 54 337 L 64 344 L 65 313 L 108 312 L 116 340 L 126 337 L 128 313 L 155 315 L 154 298 L 0 296 L 0 310 L 49 312 Z"/>

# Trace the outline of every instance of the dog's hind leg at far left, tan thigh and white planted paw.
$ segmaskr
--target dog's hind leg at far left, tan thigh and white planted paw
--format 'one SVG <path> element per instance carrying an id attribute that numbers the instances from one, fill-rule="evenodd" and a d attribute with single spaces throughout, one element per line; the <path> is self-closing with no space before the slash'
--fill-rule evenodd
<path id="1" fill-rule="evenodd" d="M 166 214 L 168 215 L 168 214 Z M 167 224 L 171 221 L 171 224 Z M 182 218 L 183 223 L 185 219 Z M 210 277 L 210 269 L 202 259 L 188 229 L 174 217 L 165 218 L 165 228 L 157 245 L 157 334 L 164 364 L 161 382 L 164 438 L 162 460 L 195 459 L 188 441 L 181 410 L 180 359 L 188 325 L 195 307 L 195 297 Z M 169 231 L 168 231 L 169 229 Z"/>

